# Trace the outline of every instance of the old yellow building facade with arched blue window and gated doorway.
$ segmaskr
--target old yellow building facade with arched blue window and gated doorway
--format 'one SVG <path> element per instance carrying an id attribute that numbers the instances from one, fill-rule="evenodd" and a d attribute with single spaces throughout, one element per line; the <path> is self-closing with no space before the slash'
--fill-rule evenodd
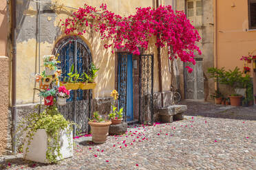
<path id="1" fill-rule="evenodd" d="M 12 52 L 12 57 L 16 54 L 15 62 L 17 65 L 15 66 L 16 71 L 12 73 L 10 72 L 11 69 L 5 70 L 6 74 L 3 75 L 6 82 L 1 81 L 3 87 L 5 87 L 1 90 L 10 93 L 10 95 L 5 95 L 7 98 L 3 97 L 2 99 L 6 99 L 6 102 L 1 102 L 1 104 L 6 104 L 6 107 L 9 106 L 9 112 L 3 110 L 5 120 L 1 122 L 3 123 L 1 128 L 3 127 L 3 130 L 6 131 L 1 130 L 1 133 L 4 134 L 2 136 L 6 137 L 3 137 L 4 139 L 0 141 L 0 150 L 5 150 L 3 148 L 7 145 L 6 143 L 8 143 L 8 149 L 11 149 L 13 127 L 19 124 L 19 121 L 28 112 L 36 112 L 34 106 L 40 103 L 40 99 L 38 92 L 33 90 L 33 88 L 39 87 L 39 84 L 36 84 L 34 80 L 34 76 L 44 70 L 44 55 L 59 53 L 58 58 L 64 64 L 62 67 L 65 68 L 68 68 L 74 61 L 78 63 L 77 69 L 81 69 L 81 71 L 87 71 L 92 62 L 99 68 L 98 77 L 95 79 L 96 88 L 94 90 L 76 90 L 72 92 L 72 99 L 68 102 L 67 108 L 60 108 L 66 118 L 74 120 L 74 117 L 76 117 L 76 121 L 84 127 L 87 126 L 87 117 L 93 111 L 98 110 L 100 114 L 109 113 L 111 109 L 110 94 L 114 89 L 120 93 L 119 104 L 125 107 L 127 121 L 149 122 L 153 119 L 156 120 L 157 117 L 154 115 L 152 118 L 150 114 L 153 114 L 159 107 L 171 104 L 171 74 L 167 49 L 162 49 L 160 52 L 160 69 L 162 71 L 160 74 L 158 49 L 155 46 L 156 38 L 151 38 L 149 48 L 146 51 L 141 51 L 142 56 L 134 56 L 128 51 L 122 50 L 115 50 L 112 53 L 113 49 L 105 49 L 106 42 L 100 40 L 100 35 L 94 30 L 90 30 L 83 36 L 76 34 L 67 36 L 63 33 L 61 20 L 63 21 L 71 16 L 72 12 L 79 7 L 83 7 L 85 3 L 83 0 L 45 0 L 41 3 L 17 0 L 15 4 L 8 2 L 9 4 L 6 6 L 12 11 L 14 10 L 16 17 L 10 13 L 11 10 L 6 13 L 6 17 L 14 17 L 12 23 L 15 23 L 15 25 L 14 27 L 12 25 L 9 29 L 6 27 L 6 36 L 3 37 L 3 34 L 1 34 L 1 40 L 6 40 L 6 42 L 1 41 L 0 45 L 3 45 L 3 49 L 9 49 L 1 51 L 1 55 L 7 56 L 8 51 Z M 106 3 L 109 10 L 122 16 L 134 14 L 137 7 L 151 6 L 156 8 L 157 5 L 165 5 L 165 1 L 161 0 L 158 2 L 156 0 L 91 0 L 86 1 L 86 3 L 94 7 Z M 5 19 L 4 17 L 3 19 Z M 8 25 L 9 21 L 5 20 L 4 23 Z M 13 36 L 11 34 L 12 30 L 17 32 L 13 43 L 7 41 L 7 36 Z M 15 48 L 12 50 L 14 46 Z M 8 61 L 8 58 L 3 60 L 5 61 L 3 64 L 8 66 L 13 63 L 10 60 Z M 4 69 L 4 67 L 1 67 L 1 69 Z M 64 69 L 63 71 L 67 72 L 69 70 Z M 8 73 L 12 75 L 12 78 L 6 77 Z M 8 80 L 16 81 L 16 83 L 13 85 Z M 160 84 L 162 84 L 161 88 Z M 16 90 L 14 96 L 12 96 L 13 87 Z M 2 114 L 1 112 L 0 114 Z M 147 114 L 140 114 L 140 112 Z M 11 118 L 8 119 L 8 117 Z M 8 127 L 10 124 L 12 128 Z"/>

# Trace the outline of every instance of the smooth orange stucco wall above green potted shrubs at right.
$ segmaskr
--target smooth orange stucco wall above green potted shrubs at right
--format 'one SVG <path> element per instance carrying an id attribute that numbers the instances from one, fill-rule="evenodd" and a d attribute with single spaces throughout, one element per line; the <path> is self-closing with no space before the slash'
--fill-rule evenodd
<path id="1" fill-rule="evenodd" d="M 217 0 L 217 67 L 243 70 L 239 58 L 256 49 L 256 30 L 248 30 L 248 3 Z M 249 64 L 252 69 L 252 64 Z M 251 71 L 253 74 L 253 71 Z"/>

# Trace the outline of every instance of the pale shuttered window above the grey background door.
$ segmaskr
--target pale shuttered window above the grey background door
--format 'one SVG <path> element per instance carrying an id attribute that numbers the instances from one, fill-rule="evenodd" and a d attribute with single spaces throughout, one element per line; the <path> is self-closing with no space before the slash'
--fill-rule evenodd
<path id="1" fill-rule="evenodd" d="M 186 0 L 186 16 L 195 27 L 202 26 L 202 0 Z"/>

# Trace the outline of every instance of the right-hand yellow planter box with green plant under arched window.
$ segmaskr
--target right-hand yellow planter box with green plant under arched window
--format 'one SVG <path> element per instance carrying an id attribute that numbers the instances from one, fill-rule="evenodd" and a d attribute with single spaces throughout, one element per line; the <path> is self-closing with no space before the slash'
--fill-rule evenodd
<path id="1" fill-rule="evenodd" d="M 94 78 L 97 76 L 97 71 L 99 69 L 94 66 L 94 63 L 91 64 L 91 68 L 89 69 L 89 73 L 83 73 L 82 83 L 80 88 L 82 90 L 94 89 L 96 87 L 96 83 L 94 82 Z"/>

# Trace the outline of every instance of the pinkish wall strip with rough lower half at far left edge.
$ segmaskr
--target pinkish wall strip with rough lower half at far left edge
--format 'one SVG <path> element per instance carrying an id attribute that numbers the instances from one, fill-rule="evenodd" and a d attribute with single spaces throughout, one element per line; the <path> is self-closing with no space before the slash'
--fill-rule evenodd
<path id="1" fill-rule="evenodd" d="M 8 58 L 8 4 L 0 3 L 0 155 L 8 143 L 8 106 L 9 106 L 9 58 Z"/>

